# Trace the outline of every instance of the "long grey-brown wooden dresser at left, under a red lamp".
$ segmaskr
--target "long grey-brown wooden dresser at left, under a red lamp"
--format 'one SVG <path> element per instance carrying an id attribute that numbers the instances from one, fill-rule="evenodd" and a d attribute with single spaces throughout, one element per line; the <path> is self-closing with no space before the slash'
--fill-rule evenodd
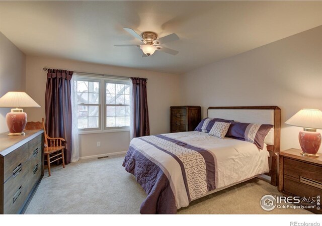
<path id="1" fill-rule="evenodd" d="M 0 213 L 23 213 L 43 176 L 43 130 L 0 134 Z"/>

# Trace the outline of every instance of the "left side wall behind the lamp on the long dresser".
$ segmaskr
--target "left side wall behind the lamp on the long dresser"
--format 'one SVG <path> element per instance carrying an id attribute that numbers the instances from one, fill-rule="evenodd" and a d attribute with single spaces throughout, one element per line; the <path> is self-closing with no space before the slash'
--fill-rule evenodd
<path id="1" fill-rule="evenodd" d="M 25 91 L 25 65 L 25 54 L 0 32 L 0 97 L 8 91 Z M 9 111 L 10 108 L 0 107 L 0 133 L 8 131 Z"/>

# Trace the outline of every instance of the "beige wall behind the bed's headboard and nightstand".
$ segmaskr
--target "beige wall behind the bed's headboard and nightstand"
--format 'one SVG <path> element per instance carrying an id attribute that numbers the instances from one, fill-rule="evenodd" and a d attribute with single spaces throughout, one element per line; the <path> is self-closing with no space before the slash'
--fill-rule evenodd
<path id="1" fill-rule="evenodd" d="M 319 26 L 186 73 L 182 103 L 201 105 L 203 117 L 208 106 L 277 105 L 281 149 L 300 148 L 301 128 L 284 122 L 301 108 L 322 109 L 321 40 Z"/>

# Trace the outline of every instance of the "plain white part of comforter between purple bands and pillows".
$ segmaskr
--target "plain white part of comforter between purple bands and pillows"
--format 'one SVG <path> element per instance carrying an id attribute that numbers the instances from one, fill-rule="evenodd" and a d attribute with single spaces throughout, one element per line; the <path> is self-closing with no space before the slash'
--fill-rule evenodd
<path id="1" fill-rule="evenodd" d="M 260 150 L 247 141 L 220 139 L 197 131 L 164 135 L 214 153 L 217 159 L 217 189 L 269 172 L 266 145 Z"/>

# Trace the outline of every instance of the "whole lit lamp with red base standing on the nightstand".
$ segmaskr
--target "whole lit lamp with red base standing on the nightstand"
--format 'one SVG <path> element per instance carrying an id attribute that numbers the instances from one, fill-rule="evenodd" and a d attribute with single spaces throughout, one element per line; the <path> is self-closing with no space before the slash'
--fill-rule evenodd
<path id="1" fill-rule="evenodd" d="M 301 109 L 285 124 L 303 127 L 298 134 L 298 140 L 303 156 L 318 157 L 316 154 L 321 145 L 321 134 L 316 129 L 322 129 L 322 111 L 319 109 Z"/>

